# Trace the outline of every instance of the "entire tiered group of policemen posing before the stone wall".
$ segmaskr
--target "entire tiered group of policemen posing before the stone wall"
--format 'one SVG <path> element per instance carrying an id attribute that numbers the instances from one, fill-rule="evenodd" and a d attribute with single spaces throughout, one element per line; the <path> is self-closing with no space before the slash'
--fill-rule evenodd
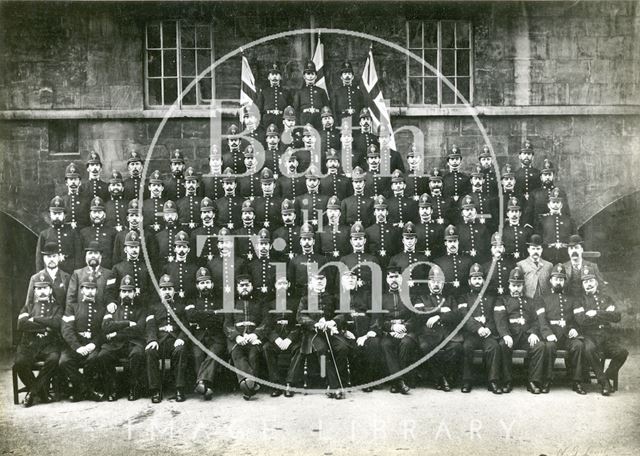
<path id="1" fill-rule="evenodd" d="M 113 171 L 103 181 L 95 152 L 84 182 L 68 165 L 18 316 L 25 406 L 54 399 L 54 375 L 72 401 L 115 401 L 123 360 L 128 399 L 148 391 L 153 403 L 160 359 L 170 359 L 178 402 L 194 389 L 211 399 L 220 360 L 245 399 L 263 365 L 271 395 L 291 397 L 309 355 L 324 363 L 336 399 L 347 385 L 369 392 L 387 378 L 391 392 L 408 394 L 424 366 L 437 389 L 456 380 L 468 393 L 478 349 L 494 394 L 512 390 L 513 350 L 527 352 L 533 394 L 549 392 L 557 350 L 574 391 L 586 394 L 593 370 L 602 394 L 612 392 L 628 354 L 612 332 L 621 315 L 583 258 L 553 164 L 535 168 L 526 141 L 500 181 L 486 146 L 471 175 L 456 146 L 444 172 L 425 172 L 414 147 L 405 167 L 372 131 L 348 62 L 332 107 L 315 78 L 310 62 L 287 106 L 273 65 L 260 119 L 246 110 L 243 129 L 228 128 L 210 173 L 187 167 L 180 150 L 167 176 L 155 170 L 146 182 L 135 151 L 126 179 Z M 336 117 L 357 123 L 352 136 Z"/>

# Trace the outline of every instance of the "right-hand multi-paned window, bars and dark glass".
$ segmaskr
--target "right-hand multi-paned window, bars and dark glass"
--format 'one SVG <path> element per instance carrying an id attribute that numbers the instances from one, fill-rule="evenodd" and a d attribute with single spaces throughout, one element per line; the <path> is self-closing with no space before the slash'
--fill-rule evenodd
<path id="1" fill-rule="evenodd" d="M 461 104 L 462 100 L 443 82 L 443 77 L 471 102 L 471 42 L 471 24 L 467 21 L 407 21 L 407 48 L 442 75 L 408 58 L 407 104 Z"/>

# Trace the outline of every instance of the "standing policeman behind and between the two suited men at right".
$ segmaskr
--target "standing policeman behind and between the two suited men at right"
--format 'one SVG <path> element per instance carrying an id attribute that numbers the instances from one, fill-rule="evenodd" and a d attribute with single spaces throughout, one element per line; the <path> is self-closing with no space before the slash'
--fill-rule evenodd
<path id="1" fill-rule="evenodd" d="M 536 232 L 542 236 L 545 259 L 555 263 L 567 261 L 567 242 L 569 236 L 576 232 L 571 217 L 562 213 L 562 196 L 558 187 L 551 191 L 549 212 L 538 218 Z"/>

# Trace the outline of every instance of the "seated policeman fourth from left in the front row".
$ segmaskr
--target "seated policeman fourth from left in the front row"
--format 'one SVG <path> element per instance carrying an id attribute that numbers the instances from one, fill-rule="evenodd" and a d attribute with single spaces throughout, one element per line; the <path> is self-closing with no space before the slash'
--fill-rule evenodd
<path id="1" fill-rule="evenodd" d="M 195 281 L 195 277 L 191 278 Z M 160 359 L 171 358 L 171 373 L 176 388 L 176 402 L 184 402 L 187 370 L 187 336 L 178 326 L 177 320 L 186 322 L 186 300 L 176 295 L 171 276 L 163 274 L 158 281 L 160 295 L 150 308 L 147 319 L 149 327 L 147 353 L 147 372 L 149 376 L 149 389 L 151 390 L 151 402 L 157 404 L 162 401 L 162 376 L 158 362 Z M 165 307 L 166 306 L 166 307 Z M 170 307 L 176 318 L 167 310 Z"/>

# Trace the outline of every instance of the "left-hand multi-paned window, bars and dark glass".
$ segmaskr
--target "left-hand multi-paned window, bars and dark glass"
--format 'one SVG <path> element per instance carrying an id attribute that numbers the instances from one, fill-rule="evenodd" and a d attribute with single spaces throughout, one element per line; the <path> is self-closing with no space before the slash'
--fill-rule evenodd
<path id="1" fill-rule="evenodd" d="M 147 24 L 145 35 L 146 105 L 172 105 L 213 63 L 213 27 L 185 21 L 152 22 Z M 180 107 L 208 105 L 213 87 L 213 76 L 207 74 L 184 94 Z"/>

